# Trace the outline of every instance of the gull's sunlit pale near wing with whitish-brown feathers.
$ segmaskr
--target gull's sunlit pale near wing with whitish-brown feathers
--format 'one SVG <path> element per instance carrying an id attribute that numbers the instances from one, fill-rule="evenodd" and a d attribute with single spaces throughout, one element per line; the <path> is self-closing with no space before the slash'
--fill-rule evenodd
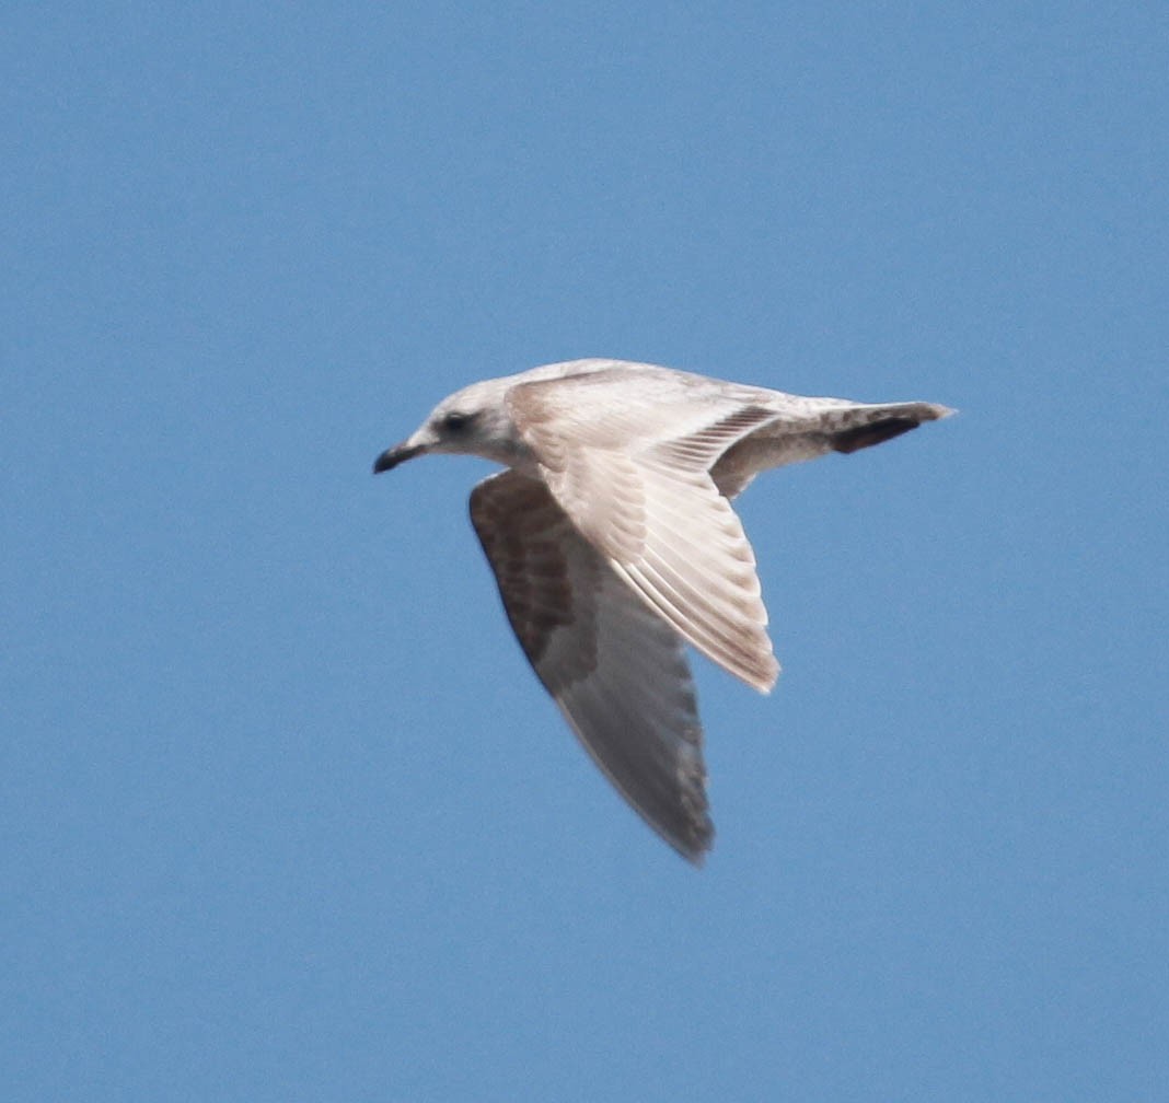
<path id="1" fill-rule="evenodd" d="M 755 557 L 708 469 L 780 416 L 768 398 L 625 368 L 524 383 L 507 397 L 552 495 L 613 571 L 699 651 L 763 692 L 779 664 Z"/>

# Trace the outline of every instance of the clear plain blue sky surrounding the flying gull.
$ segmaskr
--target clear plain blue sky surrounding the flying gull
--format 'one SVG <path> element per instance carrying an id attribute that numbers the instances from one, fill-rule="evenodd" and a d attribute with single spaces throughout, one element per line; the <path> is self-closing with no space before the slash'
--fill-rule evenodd
<path id="1" fill-rule="evenodd" d="M 1169 1083 L 1160 4 L 5 5 L 13 1101 Z M 961 415 L 761 479 L 679 860 L 524 661 L 449 391 Z"/>

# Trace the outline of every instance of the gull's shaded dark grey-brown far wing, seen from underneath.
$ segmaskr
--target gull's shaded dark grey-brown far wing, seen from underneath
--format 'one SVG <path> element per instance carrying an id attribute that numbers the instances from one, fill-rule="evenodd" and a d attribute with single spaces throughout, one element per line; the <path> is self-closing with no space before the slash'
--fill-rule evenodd
<path id="1" fill-rule="evenodd" d="M 682 640 L 542 483 L 513 471 L 484 480 L 471 521 L 507 619 L 584 748 L 655 831 L 700 861 L 713 826 Z"/>

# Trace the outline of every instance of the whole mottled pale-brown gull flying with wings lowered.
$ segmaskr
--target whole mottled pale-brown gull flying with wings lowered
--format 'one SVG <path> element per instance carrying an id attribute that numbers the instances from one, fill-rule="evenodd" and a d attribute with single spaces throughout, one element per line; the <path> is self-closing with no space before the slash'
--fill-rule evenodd
<path id="1" fill-rule="evenodd" d="M 609 781 L 698 865 L 714 827 L 685 645 L 761 693 L 780 671 L 731 502 L 762 471 L 952 412 L 570 360 L 444 398 L 373 470 L 431 452 L 507 469 L 471 492 L 471 523 L 516 637 Z"/>

